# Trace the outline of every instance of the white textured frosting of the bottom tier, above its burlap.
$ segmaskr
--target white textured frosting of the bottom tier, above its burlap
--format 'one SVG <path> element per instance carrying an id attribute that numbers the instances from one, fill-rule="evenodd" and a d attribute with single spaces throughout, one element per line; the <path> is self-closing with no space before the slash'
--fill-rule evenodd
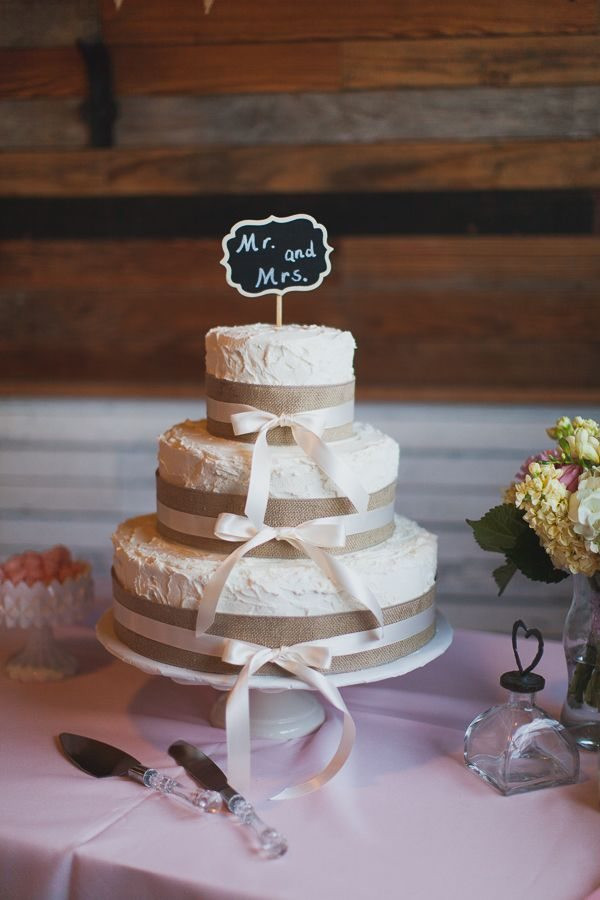
<path id="1" fill-rule="evenodd" d="M 204 586 L 223 561 L 220 553 L 164 540 L 155 516 L 123 522 L 113 536 L 115 571 L 124 588 L 182 609 L 197 609 Z M 339 559 L 362 577 L 382 607 L 419 597 L 433 585 L 437 540 L 415 522 L 396 517 L 392 537 Z M 340 594 L 310 559 L 243 558 L 221 594 L 218 612 L 236 615 L 309 616 L 361 609 Z"/>

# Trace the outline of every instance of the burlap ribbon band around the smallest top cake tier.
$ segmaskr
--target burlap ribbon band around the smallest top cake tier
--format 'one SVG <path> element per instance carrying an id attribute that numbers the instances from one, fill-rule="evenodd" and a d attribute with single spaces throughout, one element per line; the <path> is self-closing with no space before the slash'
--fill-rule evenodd
<path id="1" fill-rule="evenodd" d="M 350 405 L 348 421 L 328 427 L 323 432 L 323 440 L 330 442 L 352 436 L 354 415 L 351 404 L 353 402 L 354 381 L 333 385 L 288 386 L 242 384 L 237 381 L 225 381 L 212 375 L 206 376 L 206 427 L 208 431 L 216 437 L 244 443 L 254 443 L 256 434 L 236 435 L 228 417 L 218 414 L 219 404 L 253 406 L 276 416 Z M 280 446 L 295 443 L 291 429 L 286 426 L 271 429 L 267 441 L 269 444 Z"/>

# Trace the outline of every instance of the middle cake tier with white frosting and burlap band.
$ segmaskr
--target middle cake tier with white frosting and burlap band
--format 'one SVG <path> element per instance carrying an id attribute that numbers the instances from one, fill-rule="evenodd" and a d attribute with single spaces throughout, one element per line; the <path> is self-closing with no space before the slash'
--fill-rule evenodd
<path id="1" fill-rule="evenodd" d="M 163 537 L 223 552 L 225 542 L 214 535 L 216 520 L 221 513 L 244 514 L 252 453 L 252 445 L 210 434 L 204 420 L 188 420 L 165 432 L 159 440 L 157 474 L 158 529 Z M 350 500 L 299 447 L 277 446 L 270 450 L 265 524 L 294 527 L 314 519 L 343 517 L 346 542 L 333 552 L 354 552 L 386 540 L 394 529 L 398 444 L 371 425 L 356 422 L 351 437 L 335 442 L 335 454 L 369 494 L 367 511 L 357 514 Z M 276 541 L 251 552 L 288 558 L 298 554 Z"/>

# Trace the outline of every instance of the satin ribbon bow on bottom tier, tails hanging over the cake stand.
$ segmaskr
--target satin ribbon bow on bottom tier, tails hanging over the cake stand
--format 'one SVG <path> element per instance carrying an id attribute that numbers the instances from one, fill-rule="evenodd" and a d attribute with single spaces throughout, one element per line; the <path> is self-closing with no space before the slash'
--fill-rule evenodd
<path id="1" fill-rule="evenodd" d="M 272 800 L 289 800 L 318 790 L 339 772 L 348 759 L 356 726 L 348 712 L 342 695 L 335 685 L 325 678 L 318 669 L 331 666 L 331 653 L 327 647 L 311 644 L 295 644 L 293 647 L 260 647 L 245 641 L 229 639 L 225 644 L 221 659 L 236 666 L 243 666 L 236 683 L 227 699 L 225 719 L 227 726 L 227 772 L 232 784 L 239 786 L 242 793 L 250 785 L 250 678 L 266 663 L 277 663 L 282 669 L 295 675 L 308 687 L 319 691 L 335 709 L 343 715 L 343 727 L 338 748 L 325 768 L 302 784 L 280 791 Z"/>

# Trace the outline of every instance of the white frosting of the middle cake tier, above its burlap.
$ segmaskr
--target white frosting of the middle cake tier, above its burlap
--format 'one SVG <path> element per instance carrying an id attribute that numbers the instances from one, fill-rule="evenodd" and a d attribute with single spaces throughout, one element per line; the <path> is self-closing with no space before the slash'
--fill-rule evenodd
<path id="1" fill-rule="evenodd" d="M 396 441 L 372 425 L 354 423 L 352 437 L 331 445 L 372 494 L 396 481 L 399 448 Z M 204 419 L 174 425 L 159 439 L 161 478 L 178 487 L 245 494 L 253 444 L 216 437 Z M 341 496 L 339 489 L 297 445 L 272 447 L 270 496 L 285 499 Z"/>

